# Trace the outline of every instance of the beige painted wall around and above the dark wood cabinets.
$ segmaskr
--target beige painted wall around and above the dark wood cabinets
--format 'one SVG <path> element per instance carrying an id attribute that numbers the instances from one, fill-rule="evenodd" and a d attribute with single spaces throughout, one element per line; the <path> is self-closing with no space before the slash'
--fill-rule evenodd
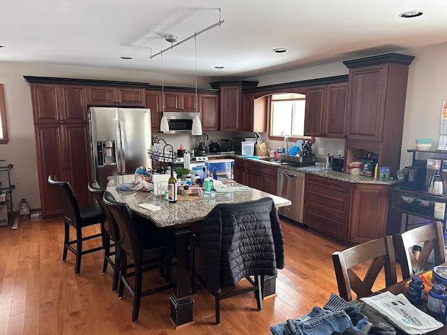
<path id="1" fill-rule="evenodd" d="M 401 168 L 411 163 L 411 154 L 407 153 L 406 149 L 415 147 L 414 140 L 416 138 L 431 138 L 434 140 L 434 147 L 437 147 L 441 105 L 443 101 L 447 100 L 447 63 L 444 61 L 447 59 L 447 43 L 413 50 L 402 50 L 402 53 L 411 54 L 416 58 L 409 67 L 405 119 L 402 120 L 404 122 L 404 136 L 402 138 Z M 347 73 L 348 69 L 340 62 L 288 71 L 277 75 L 247 78 L 247 80 L 258 80 L 259 86 L 265 86 L 318 77 L 330 77 L 332 75 L 345 75 Z M 0 62 L 0 83 L 3 84 L 5 93 L 8 135 L 10 138 L 8 144 L 0 144 L 0 159 L 6 159 L 6 162 L 0 163 L 12 163 L 14 165 L 11 179 L 17 185 L 13 194 L 16 204 L 15 210 L 18 209 L 17 205 L 21 198 L 27 198 L 31 208 L 40 207 L 31 97 L 29 84 L 24 80 L 23 75 L 161 84 L 161 76 L 156 73 Z M 210 88 L 206 78 L 198 78 L 198 80 L 199 87 Z M 165 75 L 164 83 L 167 86 L 193 87 L 194 77 Z M 220 140 L 221 138 L 235 136 L 235 134 L 227 135 L 223 132 L 210 132 L 208 135 L 210 136 L 209 140 Z M 243 136 L 246 135 L 252 134 L 244 134 Z M 179 144 L 183 144 L 184 147 L 196 146 L 196 138 L 188 135 L 162 135 L 162 137 L 172 144 L 174 149 L 177 149 Z M 266 135 L 263 135 L 263 139 L 268 140 Z M 318 141 L 319 139 L 317 139 L 317 146 L 324 146 L 325 150 L 329 148 L 328 150 L 336 151 L 341 146 L 339 140 L 329 142 L 328 139 L 325 139 L 319 144 Z M 277 146 L 276 142 L 270 144 L 272 147 Z M 0 181 L 5 182 L 1 175 Z"/>

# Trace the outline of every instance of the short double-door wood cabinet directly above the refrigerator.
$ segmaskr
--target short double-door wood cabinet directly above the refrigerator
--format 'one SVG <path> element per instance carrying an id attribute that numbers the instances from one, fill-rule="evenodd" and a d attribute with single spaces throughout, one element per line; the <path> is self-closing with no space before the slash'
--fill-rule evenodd
<path id="1" fill-rule="evenodd" d="M 87 87 L 87 102 L 92 106 L 145 107 L 144 87 Z"/>

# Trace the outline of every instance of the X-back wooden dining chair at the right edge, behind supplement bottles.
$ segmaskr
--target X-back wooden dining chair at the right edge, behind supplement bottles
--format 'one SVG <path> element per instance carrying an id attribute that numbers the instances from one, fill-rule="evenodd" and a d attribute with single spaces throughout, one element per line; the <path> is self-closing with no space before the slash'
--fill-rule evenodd
<path id="1" fill-rule="evenodd" d="M 400 260 L 403 279 L 430 269 L 433 265 L 430 255 L 434 255 L 434 265 L 446 261 L 442 230 L 442 223 L 437 221 L 395 235 L 396 254 Z M 420 247 L 418 253 L 414 253 L 415 246 Z"/>

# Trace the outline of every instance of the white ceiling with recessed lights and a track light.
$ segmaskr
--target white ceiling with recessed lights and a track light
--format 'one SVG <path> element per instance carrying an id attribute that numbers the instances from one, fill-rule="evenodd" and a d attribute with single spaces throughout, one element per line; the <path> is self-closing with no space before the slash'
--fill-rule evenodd
<path id="1" fill-rule="evenodd" d="M 178 74 L 197 69 L 197 75 L 222 79 L 447 42 L 444 0 L 2 0 L 0 10 L 1 61 L 163 67 Z M 424 14 L 399 17 L 408 10 Z M 166 35 L 181 41 L 219 20 L 196 36 L 196 45 L 191 38 L 150 58 L 171 46 Z"/>

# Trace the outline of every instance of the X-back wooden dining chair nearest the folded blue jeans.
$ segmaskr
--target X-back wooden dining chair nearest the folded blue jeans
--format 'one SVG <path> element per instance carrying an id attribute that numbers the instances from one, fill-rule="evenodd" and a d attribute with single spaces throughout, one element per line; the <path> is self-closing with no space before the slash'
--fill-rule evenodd
<path id="1" fill-rule="evenodd" d="M 363 279 L 354 271 L 356 265 L 370 262 Z M 353 300 L 353 290 L 358 298 L 372 295 L 372 286 L 382 269 L 385 270 L 386 286 L 397 283 L 393 237 L 386 236 L 358 244 L 344 251 L 332 253 L 339 296 Z M 358 272 L 358 271 L 357 271 Z"/>

